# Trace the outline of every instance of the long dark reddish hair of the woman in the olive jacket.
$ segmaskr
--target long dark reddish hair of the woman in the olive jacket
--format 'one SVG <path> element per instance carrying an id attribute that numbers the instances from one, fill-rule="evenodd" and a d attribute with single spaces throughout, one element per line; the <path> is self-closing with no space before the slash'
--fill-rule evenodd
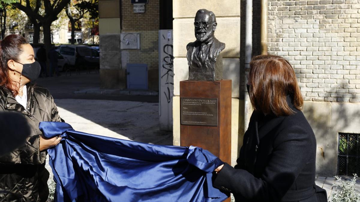
<path id="1" fill-rule="evenodd" d="M 14 89 L 13 81 L 9 77 L 8 61 L 19 61 L 19 56 L 23 50 L 21 45 L 29 43 L 20 35 L 9 35 L 0 42 L 0 86 L 8 88 L 13 95 L 17 95 L 17 89 Z"/>

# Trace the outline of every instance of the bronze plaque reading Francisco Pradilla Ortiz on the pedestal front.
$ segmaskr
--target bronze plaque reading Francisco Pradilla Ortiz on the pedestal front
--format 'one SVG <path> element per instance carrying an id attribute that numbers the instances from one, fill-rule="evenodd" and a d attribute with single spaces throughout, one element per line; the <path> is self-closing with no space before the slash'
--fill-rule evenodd
<path id="1" fill-rule="evenodd" d="M 181 124 L 217 126 L 217 98 L 181 97 Z"/>

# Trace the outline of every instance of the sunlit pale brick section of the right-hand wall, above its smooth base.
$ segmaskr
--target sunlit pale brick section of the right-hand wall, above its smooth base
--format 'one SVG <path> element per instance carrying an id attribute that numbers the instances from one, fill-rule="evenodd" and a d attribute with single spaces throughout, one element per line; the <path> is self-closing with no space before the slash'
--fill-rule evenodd
<path id="1" fill-rule="evenodd" d="M 268 51 L 306 101 L 360 102 L 360 0 L 269 0 Z"/>

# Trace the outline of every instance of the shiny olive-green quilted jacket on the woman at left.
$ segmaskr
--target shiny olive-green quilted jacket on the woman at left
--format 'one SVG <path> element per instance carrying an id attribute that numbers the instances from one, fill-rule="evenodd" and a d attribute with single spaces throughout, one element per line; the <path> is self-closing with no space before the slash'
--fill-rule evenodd
<path id="1" fill-rule="evenodd" d="M 47 152 L 39 150 L 39 123 L 63 120 L 48 89 L 27 84 L 27 98 L 25 109 L 7 88 L 0 87 L 0 113 L 22 113 L 31 129 L 24 146 L 0 156 L 0 202 L 42 202 L 49 195 L 49 172 L 45 169 Z"/>

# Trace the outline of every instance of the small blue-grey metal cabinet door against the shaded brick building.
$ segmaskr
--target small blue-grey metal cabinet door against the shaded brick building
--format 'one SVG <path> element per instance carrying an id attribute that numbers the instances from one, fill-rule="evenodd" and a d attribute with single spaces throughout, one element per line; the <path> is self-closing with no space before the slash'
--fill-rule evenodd
<path id="1" fill-rule="evenodd" d="M 147 64 L 126 64 L 127 88 L 148 89 L 148 65 Z"/>

